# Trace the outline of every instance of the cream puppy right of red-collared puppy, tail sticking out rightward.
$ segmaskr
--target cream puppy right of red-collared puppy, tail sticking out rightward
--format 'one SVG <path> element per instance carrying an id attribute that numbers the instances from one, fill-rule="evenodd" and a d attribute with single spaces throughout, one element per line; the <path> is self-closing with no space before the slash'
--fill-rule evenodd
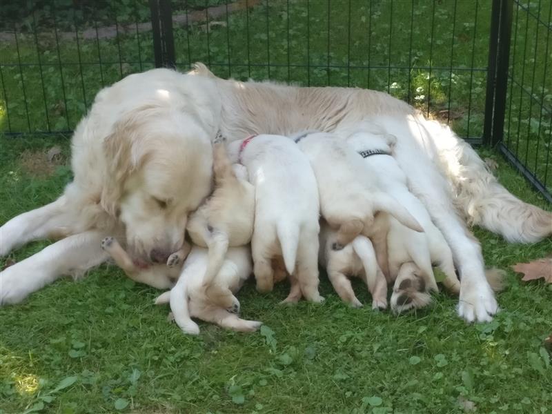
<path id="1" fill-rule="evenodd" d="M 384 192 L 377 172 L 346 141 L 327 132 L 302 134 L 295 141 L 315 172 L 322 217 L 337 230 L 333 250 L 341 250 L 359 235 L 369 237 L 377 262 L 388 277 L 388 215 L 419 232 L 422 226 Z"/>

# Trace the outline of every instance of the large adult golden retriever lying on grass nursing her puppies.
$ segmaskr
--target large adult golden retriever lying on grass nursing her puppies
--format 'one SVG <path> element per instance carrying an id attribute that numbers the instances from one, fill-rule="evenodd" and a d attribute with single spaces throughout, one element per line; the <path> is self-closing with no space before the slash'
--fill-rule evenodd
<path id="1" fill-rule="evenodd" d="M 0 228 L 0 255 L 33 239 L 66 237 L 0 273 L 0 304 L 103 262 L 100 240 L 121 238 L 117 231 L 127 233 L 137 261 L 159 262 L 177 250 L 186 213 L 209 193 L 209 139 L 217 131 L 234 140 L 335 131 L 364 119 L 397 137 L 408 186 L 451 246 L 462 279 L 459 315 L 490 320 L 497 302 L 466 223 L 535 242 L 552 234 L 551 213 L 511 195 L 447 126 L 385 93 L 224 80 L 203 65 L 186 75 L 130 75 L 99 93 L 73 136 L 75 180 L 54 203 Z"/>

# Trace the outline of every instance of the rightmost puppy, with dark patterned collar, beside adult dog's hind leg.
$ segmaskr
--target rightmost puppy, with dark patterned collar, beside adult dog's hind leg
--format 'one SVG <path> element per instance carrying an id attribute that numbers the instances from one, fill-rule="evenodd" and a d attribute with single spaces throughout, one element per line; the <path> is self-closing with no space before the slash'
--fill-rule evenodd
<path id="1" fill-rule="evenodd" d="M 400 312 L 428 304 L 428 291 L 438 290 L 432 264 L 446 276 L 444 286 L 457 295 L 460 293 L 460 281 L 456 276 L 451 248 L 431 221 L 422 202 L 408 190 L 406 175 L 393 157 L 396 138 L 374 129 L 376 127 L 370 124 L 364 124 L 361 128 L 346 138 L 347 143 L 362 155 L 366 165 L 379 172 L 379 179 L 388 194 L 404 206 L 424 229 L 424 233 L 418 233 L 395 219 L 389 222 L 388 266 L 389 275 L 395 280 L 391 308 Z M 422 281 L 417 280 L 419 278 Z M 410 282 L 404 282 L 405 279 Z"/>

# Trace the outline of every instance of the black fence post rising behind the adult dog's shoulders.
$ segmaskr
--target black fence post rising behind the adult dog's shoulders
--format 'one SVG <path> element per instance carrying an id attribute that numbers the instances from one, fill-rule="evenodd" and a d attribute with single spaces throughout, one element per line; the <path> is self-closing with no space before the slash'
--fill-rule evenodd
<path id="1" fill-rule="evenodd" d="M 175 68 L 176 66 L 170 1 L 150 0 L 153 53 L 156 68 Z"/>

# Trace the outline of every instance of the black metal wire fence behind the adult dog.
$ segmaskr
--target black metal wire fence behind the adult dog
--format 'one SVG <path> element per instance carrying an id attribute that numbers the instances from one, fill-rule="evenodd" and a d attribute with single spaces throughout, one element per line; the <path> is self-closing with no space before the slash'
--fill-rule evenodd
<path id="1" fill-rule="evenodd" d="M 69 132 L 155 66 L 384 90 L 497 145 L 552 201 L 551 0 L 25 0 L 0 8 L 0 131 Z M 550 172 L 552 175 L 552 171 Z"/>

